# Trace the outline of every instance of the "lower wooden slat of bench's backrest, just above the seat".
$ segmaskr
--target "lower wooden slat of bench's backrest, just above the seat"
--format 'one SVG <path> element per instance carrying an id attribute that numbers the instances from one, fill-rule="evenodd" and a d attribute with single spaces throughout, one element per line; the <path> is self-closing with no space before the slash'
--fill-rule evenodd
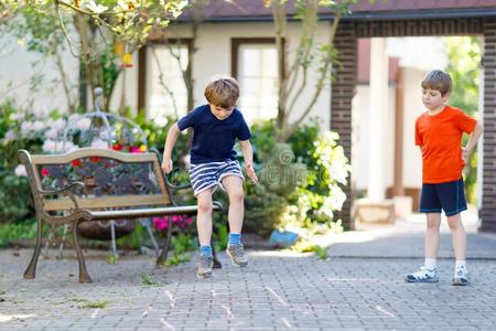
<path id="1" fill-rule="evenodd" d="M 168 205 L 169 196 L 164 194 L 150 195 L 106 195 L 99 197 L 76 197 L 79 209 L 95 210 L 95 209 L 111 209 L 111 207 L 127 207 L 127 206 L 143 206 L 143 205 Z M 45 199 L 44 210 L 68 211 L 74 209 L 74 203 L 68 197 L 62 199 Z"/>

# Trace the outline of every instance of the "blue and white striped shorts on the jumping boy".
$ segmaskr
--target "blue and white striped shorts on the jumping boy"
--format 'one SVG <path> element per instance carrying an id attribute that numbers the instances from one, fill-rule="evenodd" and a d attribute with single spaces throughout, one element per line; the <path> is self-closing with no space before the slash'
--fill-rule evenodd
<path id="1" fill-rule="evenodd" d="M 245 179 L 238 161 L 228 160 L 224 162 L 209 162 L 190 166 L 190 180 L 195 196 L 212 188 L 212 193 L 214 193 L 215 190 L 217 190 L 217 186 L 220 186 L 220 189 L 225 191 L 226 189 L 224 188 L 222 181 L 226 175 L 237 175 Z"/>

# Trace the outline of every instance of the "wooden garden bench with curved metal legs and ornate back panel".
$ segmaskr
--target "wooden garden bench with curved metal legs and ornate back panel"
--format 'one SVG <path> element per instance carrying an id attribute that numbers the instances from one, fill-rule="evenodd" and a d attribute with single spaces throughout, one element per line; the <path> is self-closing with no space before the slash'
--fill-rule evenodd
<path id="1" fill-rule="evenodd" d="M 194 215 L 196 205 L 177 205 L 174 194 L 190 185 L 170 184 L 160 167 L 158 152 L 122 153 L 109 149 L 82 148 L 64 154 L 31 156 L 19 150 L 36 212 L 36 246 L 24 273 L 35 277 L 42 245 L 42 226 L 68 224 L 79 263 L 79 282 L 91 282 L 78 242 L 82 222 L 138 220 L 163 215 Z M 223 211 L 214 202 L 214 211 Z M 172 222 L 171 222 L 172 223 Z M 172 224 L 157 265 L 168 258 Z M 214 257 L 216 267 L 220 267 Z"/>

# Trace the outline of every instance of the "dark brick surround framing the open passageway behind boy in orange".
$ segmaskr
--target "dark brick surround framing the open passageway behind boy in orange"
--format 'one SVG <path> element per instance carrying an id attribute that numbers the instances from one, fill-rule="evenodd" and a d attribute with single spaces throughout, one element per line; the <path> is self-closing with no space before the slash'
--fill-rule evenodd
<path id="1" fill-rule="evenodd" d="M 482 231 L 496 232 L 496 18 L 398 20 L 398 21 L 343 21 L 336 34 L 335 47 L 342 67 L 336 68 L 332 84 L 331 129 L 338 132 L 346 157 L 352 154 L 352 98 L 356 84 L 357 39 L 374 36 L 427 36 L 484 34 L 484 179 L 483 202 L 479 215 Z M 353 166 L 353 164 L 352 164 Z M 345 188 L 348 196 L 337 215 L 347 229 L 354 192 Z"/>

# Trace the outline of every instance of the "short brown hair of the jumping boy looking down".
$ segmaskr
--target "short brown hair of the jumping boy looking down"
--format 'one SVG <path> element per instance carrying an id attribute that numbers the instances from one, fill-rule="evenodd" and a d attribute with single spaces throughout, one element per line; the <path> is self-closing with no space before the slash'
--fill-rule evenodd
<path id="1" fill-rule="evenodd" d="M 215 76 L 205 87 L 205 98 L 212 105 L 229 109 L 236 106 L 239 98 L 239 86 L 233 77 Z"/>

